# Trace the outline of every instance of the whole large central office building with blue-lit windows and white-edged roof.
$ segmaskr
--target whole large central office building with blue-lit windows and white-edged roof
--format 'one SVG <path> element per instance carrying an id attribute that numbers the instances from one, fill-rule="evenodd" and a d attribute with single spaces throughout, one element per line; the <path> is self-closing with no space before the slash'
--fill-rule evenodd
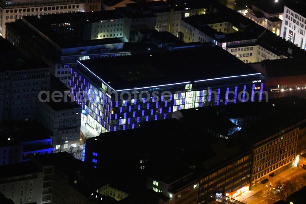
<path id="1" fill-rule="evenodd" d="M 261 74 L 220 47 L 82 60 L 70 72 L 72 98 L 98 133 L 264 96 Z"/>

